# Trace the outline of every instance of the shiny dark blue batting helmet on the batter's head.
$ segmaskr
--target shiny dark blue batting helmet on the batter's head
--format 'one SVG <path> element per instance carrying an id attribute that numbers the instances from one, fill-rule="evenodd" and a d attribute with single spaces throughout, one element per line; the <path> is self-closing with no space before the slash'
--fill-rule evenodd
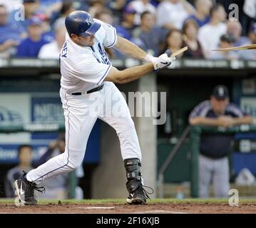
<path id="1" fill-rule="evenodd" d="M 66 17 L 65 26 L 69 36 L 72 33 L 80 36 L 91 36 L 101 28 L 101 24 L 93 21 L 91 15 L 86 11 L 73 11 Z"/>

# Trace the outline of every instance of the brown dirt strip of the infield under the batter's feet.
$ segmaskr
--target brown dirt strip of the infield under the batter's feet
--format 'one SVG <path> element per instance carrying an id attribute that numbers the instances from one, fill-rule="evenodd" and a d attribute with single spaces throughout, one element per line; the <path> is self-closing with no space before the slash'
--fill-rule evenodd
<path id="1" fill-rule="evenodd" d="M 46 203 L 36 206 L 16 207 L 15 204 L 1 203 L 0 213 L 65 213 L 65 214 L 256 214 L 256 203 L 241 203 L 231 207 L 227 203 L 150 203 L 128 205 L 124 203 Z"/>

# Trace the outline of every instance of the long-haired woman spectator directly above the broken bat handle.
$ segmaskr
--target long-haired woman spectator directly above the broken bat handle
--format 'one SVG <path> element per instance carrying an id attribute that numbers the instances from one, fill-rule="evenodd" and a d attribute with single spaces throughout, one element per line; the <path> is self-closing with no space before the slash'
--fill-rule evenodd
<path id="1" fill-rule="evenodd" d="M 180 50 L 182 44 L 183 44 L 183 33 L 178 29 L 172 29 L 166 35 L 162 53 L 164 53 L 167 49 L 170 49 L 172 53 L 175 51 L 178 51 Z M 182 56 L 183 56 L 183 53 L 176 56 L 176 58 L 181 58 Z"/>

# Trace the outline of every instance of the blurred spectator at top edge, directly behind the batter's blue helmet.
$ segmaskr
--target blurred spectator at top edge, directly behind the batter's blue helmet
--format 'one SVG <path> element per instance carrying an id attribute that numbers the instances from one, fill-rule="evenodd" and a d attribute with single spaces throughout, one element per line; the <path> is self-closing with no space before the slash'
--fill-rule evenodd
<path id="1" fill-rule="evenodd" d="M 60 24 L 60 23 L 65 25 L 66 16 L 68 16 L 68 14 L 71 14 L 75 10 L 76 10 L 76 6 L 74 5 L 73 1 L 71 0 L 63 1 L 61 10 L 53 14 L 53 16 L 51 17 L 51 24 L 54 23 L 53 27 L 55 26 L 55 24 Z"/>

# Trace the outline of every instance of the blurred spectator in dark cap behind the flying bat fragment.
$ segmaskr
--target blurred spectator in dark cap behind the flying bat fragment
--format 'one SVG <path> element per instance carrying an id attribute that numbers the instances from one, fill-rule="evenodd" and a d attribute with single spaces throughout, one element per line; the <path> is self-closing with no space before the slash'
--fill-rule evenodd
<path id="1" fill-rule="evenodd" d="M 235 43 L 235 37 L 232 34 L 226 33 L 220 36 L 219 48 L 232 48 Z M 213 59 L 237 59 L 239 54 L 237 51 L 212 51 L 210 58 Z"/>

